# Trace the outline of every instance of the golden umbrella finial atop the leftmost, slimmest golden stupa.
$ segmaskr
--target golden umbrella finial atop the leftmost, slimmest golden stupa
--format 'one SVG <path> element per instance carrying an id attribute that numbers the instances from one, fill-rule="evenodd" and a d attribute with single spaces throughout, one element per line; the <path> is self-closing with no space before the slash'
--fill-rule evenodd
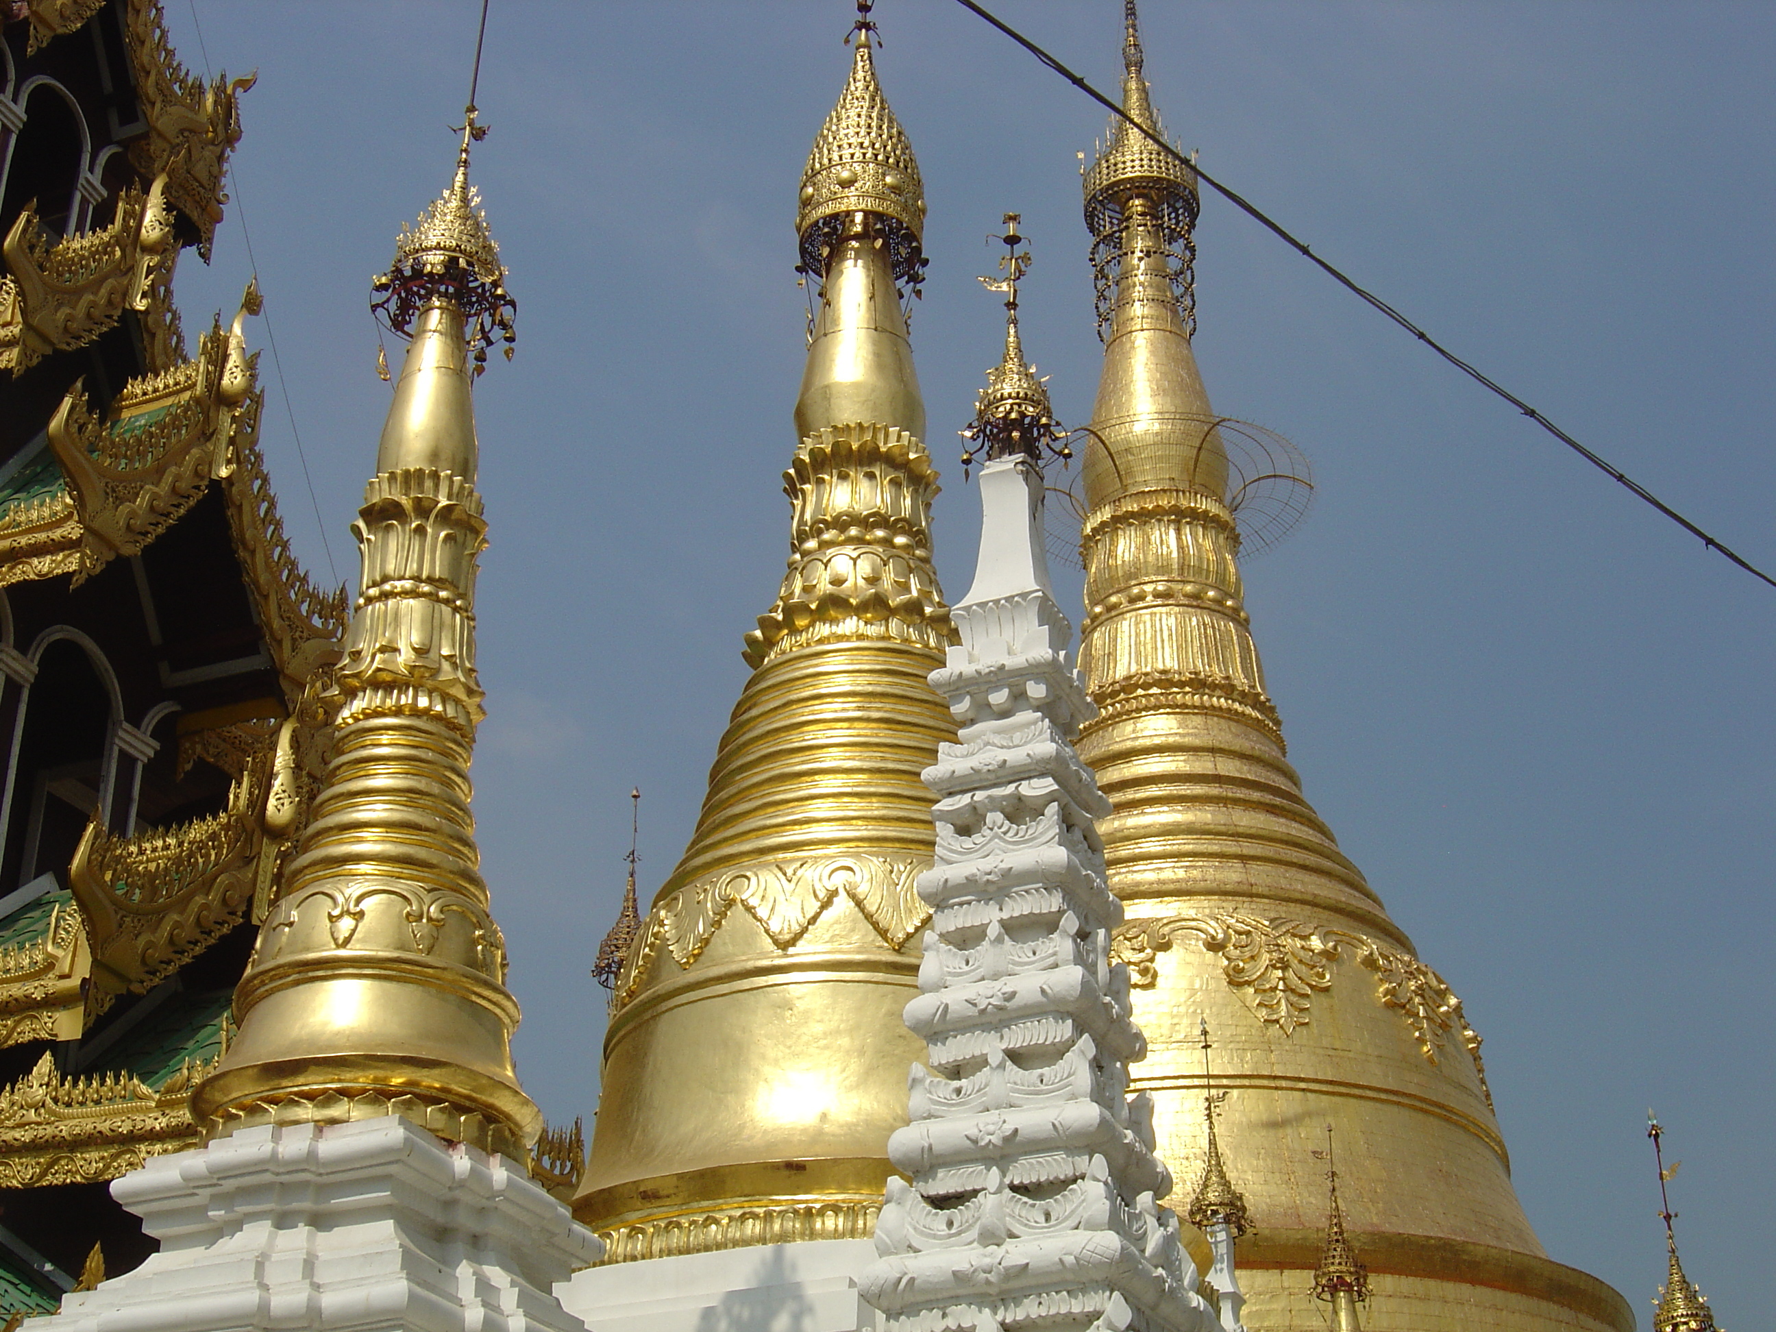
<path id="1" fill-rule="evenodd" d="M 481 194 L 469 185 L 469 146 L 487 139 L 488 126 L 476 123 L 476 107 L 464 108 L 462 147 L 456 174 L 444 194 L 394 242 L 389 272 L 371 279 L 371 309 L 387 329 L 405 337 L 419 313 L 449 298 L 467 321 L 474 348 L 474 373 L 487 368 L 487 348 L 503 341 L 511 359 L 517 302 L 506 291 L 506 268 L 499 243 L 487 226 Z"/>

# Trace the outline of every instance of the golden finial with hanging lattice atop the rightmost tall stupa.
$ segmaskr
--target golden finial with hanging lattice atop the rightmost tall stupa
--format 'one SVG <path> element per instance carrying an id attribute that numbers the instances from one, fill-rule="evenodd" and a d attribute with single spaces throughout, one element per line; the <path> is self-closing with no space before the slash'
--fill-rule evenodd
<path id="1" fill-rule="evenodd" d="M 1142 75 L 1140 18 L 1135 0 L 1122 4 L 1122 114 L 1112 117 L 1103 151 L 1085 172 L 1085 226 L 1092 233 L 1092 274 L 1098 288 L 1098 336 L 1105 336 L 1121 266 L 1137 256 L 1128 245 L 1130 222 L 1158 229 L 1172 288 L 1188 332 L 1195 332 L 1197 172 L 1162 149 L 1142 130 L 1165 137 Z M 1135 124 L 1130 124 L 1133 121 Z M 1151 231 L 1149 227 L 1149 231 Z"/>

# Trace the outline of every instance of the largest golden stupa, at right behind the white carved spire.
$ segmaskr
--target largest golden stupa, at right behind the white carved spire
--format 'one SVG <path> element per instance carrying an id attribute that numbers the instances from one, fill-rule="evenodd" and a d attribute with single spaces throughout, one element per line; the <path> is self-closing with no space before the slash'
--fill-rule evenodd
<path id="1" fill-rule="evenodd" d="M 1126 4 L 1122 107 L 1158 133 Z M 1160 1151 L 1201 1160 L 1192 1058 L 1220 1032 L 1222 1147 L 1254 1233 L 1238 1243 L 1245 1318 L 1320 1328 L 1323 1215 L 1311 1151 L 1336 1128 L 1344 1220 L 1376 1328 L 1621 1328 L 1620 1295 L 1550 1261 L 1510 1158 L 1462 1003 L 1389 918 L 1302 796 L 1241 600 L 1220 419 L 1192 353 L 1197 181 L 1115 121 L 1085 174 L 1103 377 L 1083 465 L 1080 737 L 1115 813 L 1101 821 L 1128 908 Z"/>

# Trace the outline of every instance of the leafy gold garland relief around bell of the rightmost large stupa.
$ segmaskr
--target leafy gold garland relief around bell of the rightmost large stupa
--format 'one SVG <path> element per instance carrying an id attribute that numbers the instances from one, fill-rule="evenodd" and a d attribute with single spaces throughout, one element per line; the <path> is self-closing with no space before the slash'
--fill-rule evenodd
<path id="1" fill-rule="evenodd" d="M 1130 968 L 1135 989 L 1158 984 L 1158 954 L 1179 940 L 1197 940 L 1222 955 L 1227 984 L 1249 996 L 1259 1021 L 1293 1035 L 1311 1018 L 1314 991 L 1332 987 L 1332 963 L 1344 948 L 1376 977 L 1376 998 L 1405 1018 L 1419 1051 L 1439 1062 L 1439 1046 L 1451 1034 L 1474 1060 L 1479 1089 L 1492 1105 L 1481 1037 L 1467 1021 L 1449 984 L 1417 957 L 1389 948 L 1366 934 L 1314 927 L 1300 920 L 1266 920 L 1233 911 L 1209 916 L 1130 920 L 1117 929 L 1112 957 Z"/>

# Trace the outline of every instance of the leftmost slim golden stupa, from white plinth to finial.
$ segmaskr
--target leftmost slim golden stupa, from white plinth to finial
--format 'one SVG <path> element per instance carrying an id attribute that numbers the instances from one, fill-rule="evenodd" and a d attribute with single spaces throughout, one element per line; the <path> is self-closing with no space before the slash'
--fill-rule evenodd
<path id="1" fill-rule="evenodd" d="M 197 1087 L 210 1135 L 396 1114 L 524 1160 L 506 948 L 469 813 L 485 545 L 469 348 L 511 341 L 504 268 L 456 178 L 401 234 L 377 309 L 412 341 L 353 524 L 361 593 L 336 668 L 332 760 L 234 991 L 238 1035 Z"/>

